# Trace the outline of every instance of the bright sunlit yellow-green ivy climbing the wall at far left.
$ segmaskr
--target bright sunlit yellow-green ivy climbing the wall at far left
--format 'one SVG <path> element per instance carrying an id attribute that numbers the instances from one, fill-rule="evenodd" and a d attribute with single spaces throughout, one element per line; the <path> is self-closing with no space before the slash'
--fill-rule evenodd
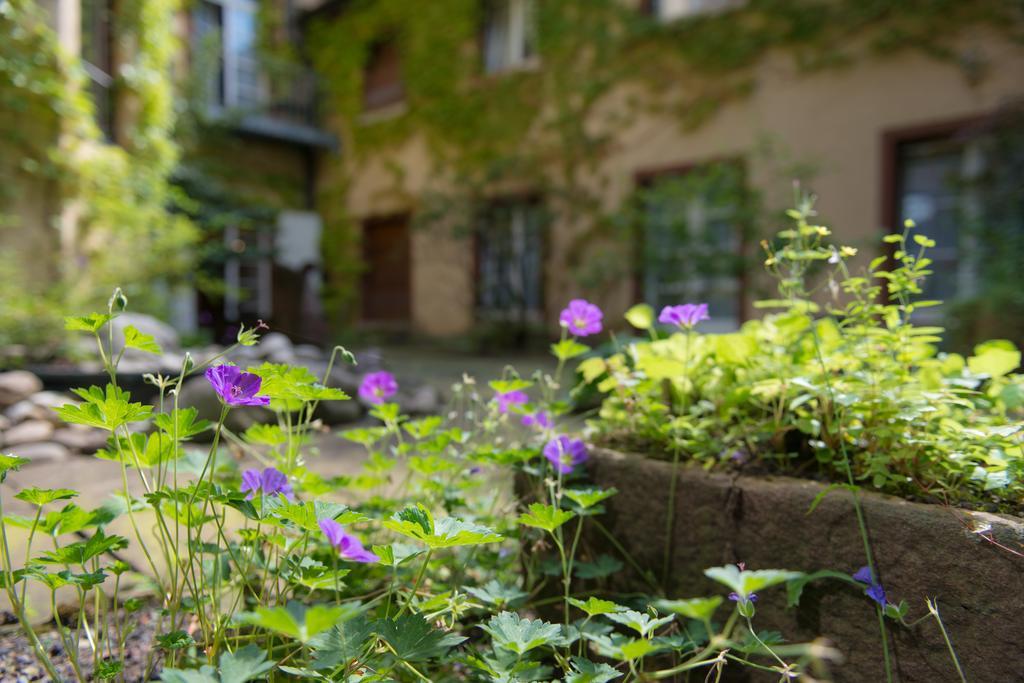
<path id="1" fill-rule="evenodd" d="M 95 124 L 82 61 L 60 45 L 51 17 L 34 0 L 0 2 L 0 213 L 7 229 L 42 231 L 51 247 L 33 254 L 50 262 L 20 264 L 25 272 L 7 264 L 15 269 L 5 280 L 14 284 L 0 292 L 0 316 L 22 315 L 12 322 L 19 341 L 33 329 L 45 338 L 51 330 L 44 317 L 92 305 L 115 285 L 143 307 L 159 306 L 154 280 L 188 267 L 195 228 L 168 210 L 168 179 L 178 162 L 171 69 L 178 8 L 178 0 L 114 3 L 112 144 Z M 27 219 L 17 206 L 25 195 L 46 202 L 41 221 Z M 40 302 L 47 300 L 49 315 L 42 315 Z M 33 310 L 22 311 L 19 301 L 33 302 Z"/>

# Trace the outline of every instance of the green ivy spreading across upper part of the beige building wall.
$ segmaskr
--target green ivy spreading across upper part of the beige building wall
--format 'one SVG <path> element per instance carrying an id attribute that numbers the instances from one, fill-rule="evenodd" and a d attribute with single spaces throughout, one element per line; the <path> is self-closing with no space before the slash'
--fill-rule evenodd
<path id="1" fill-rule="evenodd" d="M 472 219 L 473 207 L 498 182 L 526 181 L 562 216 L 602 217 L 601 182 L 580 181 L 606 153 L 631 110 L 596 120 L 614 87 L 646 94 L 630 102 L 667 112 L 684 128 L 699 126 L 725 102 L 757 87 L 755 67 L 784 51 L 802 70 L 839 69 L 896 50 L 924 51 L 959 63 L 965 77 L 986 65 L 952 47 L 968 27 L 985 25 L 1024 40 L 1019 3 L 1005 0 L 748 0 L 742 8 L 660 24 L 623 0 L 537 2 L 539 66 L 483 74 L 480 0 L 353 0 L 317 17 L 308 34 L 327 85 L 327 110 L 345 150 L 330 196 L 323 198 L 336 289 L 354 289 L 357 230 L 345 214 L 345 185 L 370 157 L 418 136 L 430 148 L 443 189 L 428 193 L 422 215 Z M 362 112 L 362 74 L 373 49 L 395 41 L 404 111 L 384 119 Z M 686 87 L 666 88 L 666 83 Z M 406 193 L 401 169 L 393 191 Z M 453 189 L 454 188 L 454 189 Z M 449 221 L 451 222 L 451 221 Z"/>

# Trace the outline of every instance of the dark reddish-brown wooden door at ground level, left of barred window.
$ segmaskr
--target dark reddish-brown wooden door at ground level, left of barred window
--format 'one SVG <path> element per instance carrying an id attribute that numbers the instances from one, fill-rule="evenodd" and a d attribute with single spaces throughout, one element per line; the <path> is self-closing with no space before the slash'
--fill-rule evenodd
<path id="1" fill-rule="evenodd" d="M 409 216 L 364 223 L 362 319 L 408 322 L 412 310 Z"/>

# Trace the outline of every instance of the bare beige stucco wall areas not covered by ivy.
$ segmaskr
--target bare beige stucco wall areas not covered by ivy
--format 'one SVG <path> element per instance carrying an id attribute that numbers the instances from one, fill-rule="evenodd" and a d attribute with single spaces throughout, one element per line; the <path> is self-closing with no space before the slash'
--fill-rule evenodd
<path id="1" fill-rule="evenodd" d="M 757 87 L 750 96 L 724 103 L 695 130 L 684 130 L 677 118 L 640 108 L 584 182 L 599 187 L 605 208 L 611 210 L 634 189 L 639 171 L 742 157 L 751 184 L 769 207 L 781 208 L 792 191 L 779 175 L 777 160 L 752 154 L 770 136 L 794 160 L 817 167 L 811 189 L 819 198 L 822 221 L 840 240 L 869 246 L 882 229 L 886 132 L 984 116 L 1024 97 L 1024 46 L 978 31 L 966 35 L 959 47 L 989 65 L 979 82 L 969 82 L 955 63 L 912 50 L 811 74 L 800 73 L 790 55 L 771 56 L 758 68 Z M 685 87 L 666 84 L 666 89 Z M 644 94 L 624 86 L 593 116 L 603 119 L 627 112 L 635 96 Z M 348 209 L 356 220 L 415 211 L 424 190 L 436 190 L 440 182 L 420 140 L 366 162 L 347 163 L 355 165 Z M 552 321 L 571 296 L 589 294 L 560 266 L 586 227 L 571 220 L 552 226 L 545 283 Z M 471 247 L 468 240 L 440 232 L 414 237 L 412 324 L 417 331 L 454 335 L 472 326 Z M 624 279 L 600 303 L 617 318 L 633 303 L 632 296 L 632 283 Z"/>

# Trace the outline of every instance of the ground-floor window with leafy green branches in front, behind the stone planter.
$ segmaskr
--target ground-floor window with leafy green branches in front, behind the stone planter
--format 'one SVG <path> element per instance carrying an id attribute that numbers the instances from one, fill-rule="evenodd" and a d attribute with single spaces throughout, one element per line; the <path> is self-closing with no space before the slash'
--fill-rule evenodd
<path id="1" fill-rule="evenodd" d="M 705 329 L 738 327 L 744 200 L 735 164 L 644 178 L 636 202 L 642 300 L 656 310 L 703 302 L 711 314 Z"/>

